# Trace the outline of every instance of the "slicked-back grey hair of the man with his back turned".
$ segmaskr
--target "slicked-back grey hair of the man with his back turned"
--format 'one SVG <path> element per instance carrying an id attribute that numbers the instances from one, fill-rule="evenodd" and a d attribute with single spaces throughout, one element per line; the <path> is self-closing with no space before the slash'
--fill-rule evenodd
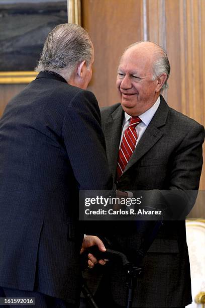
<path id="1" fill-rule="evenodd" d="M 74 24 L 56 26 L 47 36 L 36 71 L 51 70 L 69 79 L 83 60 L 90 64 L 93 47 L 85 29 Z"/>

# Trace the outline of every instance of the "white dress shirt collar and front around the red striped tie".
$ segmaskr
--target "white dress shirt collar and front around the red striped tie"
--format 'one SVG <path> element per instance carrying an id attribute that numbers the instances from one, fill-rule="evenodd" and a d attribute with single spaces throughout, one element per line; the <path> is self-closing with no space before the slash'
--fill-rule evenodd
<path id="1" fill-rule="evenodd" d="M 157 109 L 159 107 L 159 104 L 160 104 L 160 97 L 158 97 L 157 101 L 154 103 L 154 105 L 150 109 L 148 109 L 147 111 L 145 111 L 144 113 L 142 113 L 139 116 L 139 118 L 142 120 L 142 122 L 140 122 L 135 127 L 135 129 L 137 131 L 137 136 L 138 136 L 137 142 L 136 142 L 135 146 L 138 144 L 140 138 L 144 134 L 147 126 L 149 125 L 149 123 L 152 120 L 155 112 L 157 111 Z M 123 120 L 121 140 L 120 140 L 120 146 L 121 146 L 121 142 L 123 140 L 123 136 L 124 136 L 125 130 L 128 128 L 128 126 L 130 124 L 130 118 L 131 118 L 131 116 L 125 112 L 125 117 L 124 117 L 124 120 Z"/>

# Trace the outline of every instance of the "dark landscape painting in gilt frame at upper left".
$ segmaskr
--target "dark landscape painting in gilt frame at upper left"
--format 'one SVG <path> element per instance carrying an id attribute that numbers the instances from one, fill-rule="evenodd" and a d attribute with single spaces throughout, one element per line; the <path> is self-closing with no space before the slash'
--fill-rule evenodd
<path id="1" fill-rule="evenodd" d="M 56 25 L 68 22 L 67 7 L 67 0 L 1 0 L 0 83 L 35 78 L 45 38 Z"/>

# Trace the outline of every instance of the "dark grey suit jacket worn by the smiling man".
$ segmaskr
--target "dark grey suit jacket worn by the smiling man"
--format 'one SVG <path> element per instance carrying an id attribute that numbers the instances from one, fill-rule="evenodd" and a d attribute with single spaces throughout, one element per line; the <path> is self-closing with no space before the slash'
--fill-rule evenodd
<path id="1" fill-rule="evenodd" d="M 124 112 L 120 104 L 101 110 L 107 156 L 114 179 Z M 196 121 L 168 107 L 160 106 L 148 125 L 123 173 L 121 190 L 197 190 L 202 167 L 204 128 Z M 107 229 L 108 229 L 107 222 Z M 99 234 L 100 236 L 100 234 Z M 101 233 L 105 236 L 105 233 Z M 106 236 L 109 237 L 109 232 Z M 134 260 L 139 237 L 130 222 L 111 222 L 110 236 Z M 165 221 L 143 261 L 133 307 L 175 307 L 191 302 L 190 269 L 185 222 Z M 101 267 L 101 271 L 106 269 Z M 90 270 L 90 275 L 92 275 Z M 125 305 L 125 274 L 119 265 L 108 270 L 115 301 Z M 97 273 L 99 274 L 99 273 Z M 93 276 L 94 277 L 94 276 Z M 94 291 L 97 279 L 90 280 Z M 97 277 L 97 275 L 95 276 Z"/>

